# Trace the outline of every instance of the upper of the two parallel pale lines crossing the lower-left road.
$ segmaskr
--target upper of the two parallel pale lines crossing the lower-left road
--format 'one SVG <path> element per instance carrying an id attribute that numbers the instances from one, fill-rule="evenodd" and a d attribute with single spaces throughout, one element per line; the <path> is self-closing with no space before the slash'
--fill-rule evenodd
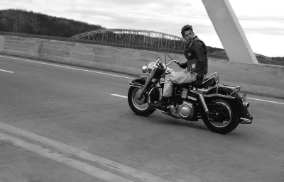
<path id="1" fill-rule="evenodd" d="M 41 144 L 48 145 L 50 147 L 53 147 L 58 150 L 58 152 L 62 152 L 64 154 L 72 154 L 76 157 L 80 157 L 81 159 L 85 159 L 87 161 L 93 161 L 96 162 L 99 165 L 102 165 L 104 167 L 107 167 L 111 170 L 118 171 L 122 174 L 127 174 L 129 176 L 133 176 L 133 178 L 137 178 L 141 181 L 148 181 L 148 182 L 172 182 L 168 181 L 166 179 L 160 178 L 159 176 L 154 176 L 153 174 L 149 174 L 145 171 L 140 171 L 138 169 L 132 168 L 131 166 L 126 166 L 124 164 L 120 164 L 116 161 L 111 161 L 109 159 L 105 159 L 103 157 L 99 157 L 95 154 L 91 154 L 89 152 L 86 152 L 82 149 L 77 149 L 75 147 L 72 147 L 70 145 L 51 140 L 49 138 L 36 135 L 33 132 L 28 132 L 26 130 L 22 130 L 21 128 L 14 127 L 12 125 L 8 125 L 6 123 L 0 122 L 0 130 L 5 130 L 7 132 L 11 132 L 16 135 L 20 135 L 22 137 L 26 137 L 28 139 L 31 139 L 35 142 L 39 142 Z M 95 173 L 99 174 L 99 173 Z M 193 178 L 193 176 L 192 176 Z M 120 181 L 120 180 L 119 180 Z M 117 181 L 116 181 L 117 182 Z"/>

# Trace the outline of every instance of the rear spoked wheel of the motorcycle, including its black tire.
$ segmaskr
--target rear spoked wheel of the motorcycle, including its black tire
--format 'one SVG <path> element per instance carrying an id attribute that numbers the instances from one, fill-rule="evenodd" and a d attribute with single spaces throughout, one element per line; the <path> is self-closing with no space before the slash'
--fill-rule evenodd
<path id="1" fill-rule="evenodd" d="M 208 108 L 213 114 L 202 116 L 202 120 L 212 132 L 226 134 L 239 125 L 239 112 L 234 102 L 214 99 Z"/>

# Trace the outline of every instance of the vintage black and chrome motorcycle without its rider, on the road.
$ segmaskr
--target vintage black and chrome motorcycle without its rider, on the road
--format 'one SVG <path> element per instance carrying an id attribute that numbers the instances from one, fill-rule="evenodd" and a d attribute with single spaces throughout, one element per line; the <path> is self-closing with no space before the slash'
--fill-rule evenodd
<path id="1" fill-rule="evenodd" d="M 157 57 L 155 62 L 142 67 L 145 75 L 129 81 L 128 103 L 134 113 L 148 116 L 158 110 L 175 119 L 202 119 L 209 130 L 219 134 L 232 132 L 239 123 L 252 123 L 254 116 L 246 117 L 249 112 L 246 94 L 239 94 L 241 86 L 219 84 L 218 72 L 209 74 L 202 82 L 173 84 L 173 96 L 167 108 L 155 108 L 153 103 L 162 98 L 165 75 L 174 72 L 169 65 L 179 64 L 172 57 L 167 64 L 167 56 L 170 55 L 165 55 L 165 64 Z"/>

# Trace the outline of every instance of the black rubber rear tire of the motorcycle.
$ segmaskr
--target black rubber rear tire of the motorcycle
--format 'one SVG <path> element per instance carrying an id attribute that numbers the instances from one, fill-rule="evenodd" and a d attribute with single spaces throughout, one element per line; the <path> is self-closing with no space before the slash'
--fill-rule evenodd
<path id="1" fill-rule="evenodd" d="M 235 100 L 229 100 L 224 98 L 212 98 L 208 103 L 217 104 L 213 107 L 210 107 L 209 111 L 214 111 L 219 109 L 219 110 L 224 110 L 223 113 L 225 113 L 225 115 L 229 115 L 229 113 L 231 113 L 229 122 L 226 123 L 225 125 L 223 125 L 222 123 L 218 124 L 214 122 L 214 120 L 209 120 L 209 116 L 203 115 L 202 120 L 209 130 L 211 130 L 212 132 L 225 135 L 236 129 L 236 127 L 239 125 L 240 115 Z"/>

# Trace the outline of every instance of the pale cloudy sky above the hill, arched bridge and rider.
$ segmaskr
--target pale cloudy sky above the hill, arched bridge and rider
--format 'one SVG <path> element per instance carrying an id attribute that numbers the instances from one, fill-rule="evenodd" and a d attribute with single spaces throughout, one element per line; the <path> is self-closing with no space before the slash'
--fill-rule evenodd
<path id="1" fill-rule="evenodd" d="M 253 52 L 284 57 L 284 1 L 229 0 Z M 224 48 L 202 0 L 0 0 L 0 9 L 21 8 L 104 28 L 153 30 L 180 35 L 185 24 L 206 45 Z"/>

